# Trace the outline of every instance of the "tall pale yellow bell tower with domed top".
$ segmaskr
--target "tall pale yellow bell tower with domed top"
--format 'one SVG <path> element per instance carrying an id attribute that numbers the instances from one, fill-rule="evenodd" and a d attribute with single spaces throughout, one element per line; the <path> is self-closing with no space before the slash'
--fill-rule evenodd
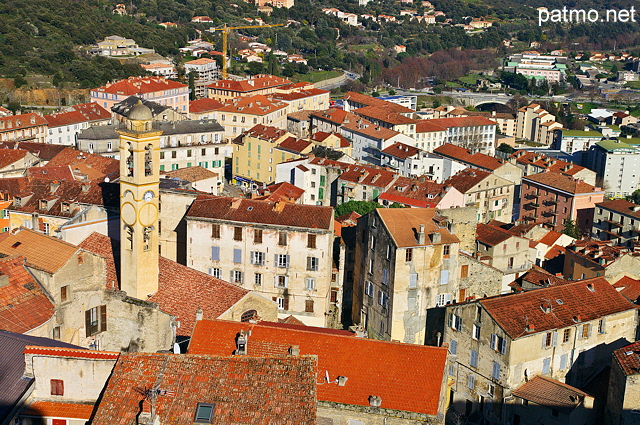
<path id="1" fill-rule="evenodd" d="M 120 135 L 120 289 L 146 300 L 158 290 L 160 135 L 138 101 Z"/>

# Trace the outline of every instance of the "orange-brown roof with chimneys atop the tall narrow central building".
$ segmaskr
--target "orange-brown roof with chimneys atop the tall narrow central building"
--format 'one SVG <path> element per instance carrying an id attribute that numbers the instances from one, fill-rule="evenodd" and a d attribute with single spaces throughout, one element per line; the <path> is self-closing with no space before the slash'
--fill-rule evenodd
<path id="1" fill-rule="evenodd" d="M 425 233 L 423 246 L 433 245 L 430 238 L 432 233 L 440 233 L 441 244 L 459 242 L 456 235 L 436 224 L 435 208 L 378 208 L 374 213 L 380 215 L 398 248 L 420 246 L 418 232 L 421 224 L 424 225 Z"/>

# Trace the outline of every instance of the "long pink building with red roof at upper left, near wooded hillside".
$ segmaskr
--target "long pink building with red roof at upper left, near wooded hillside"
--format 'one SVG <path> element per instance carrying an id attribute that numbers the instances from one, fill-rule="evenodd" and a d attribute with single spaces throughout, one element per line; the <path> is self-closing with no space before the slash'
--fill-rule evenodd
<path id="1" fill-rule="evenodd" d="M 139 96 L 180 113 L 189 113 L 189 86 L 164 77 L 129 77 L 91 90 L 91 102 L 107 110 L 129 96 Z"/>

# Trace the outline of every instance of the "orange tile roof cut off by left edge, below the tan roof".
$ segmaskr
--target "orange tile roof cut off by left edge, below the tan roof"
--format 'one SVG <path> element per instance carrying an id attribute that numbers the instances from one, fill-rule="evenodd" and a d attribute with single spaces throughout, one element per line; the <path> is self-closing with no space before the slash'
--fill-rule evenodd
<path id="1" fill-rule="evenodd" d="M 48 322 L 55 309 L 24 257 L 0 258 L 0 329 L 25 333 Z"/>

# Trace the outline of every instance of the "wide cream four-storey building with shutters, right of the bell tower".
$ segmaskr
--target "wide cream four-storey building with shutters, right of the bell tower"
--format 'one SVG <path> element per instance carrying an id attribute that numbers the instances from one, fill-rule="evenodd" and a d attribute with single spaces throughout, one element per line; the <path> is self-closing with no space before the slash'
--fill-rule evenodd
<path id="1" fill-rule="evenodd" d="M 333 209 L 200 195 L 186 214 L 187 262 L 278 303 L 278 316 L 337 326 Z"/>

